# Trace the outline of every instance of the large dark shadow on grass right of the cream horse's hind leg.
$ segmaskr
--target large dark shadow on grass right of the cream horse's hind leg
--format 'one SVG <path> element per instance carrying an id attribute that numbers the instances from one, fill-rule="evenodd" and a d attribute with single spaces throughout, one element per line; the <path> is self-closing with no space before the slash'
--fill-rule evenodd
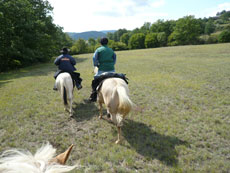
<path id="1" fill-rule="evenodd" d="M 189 146 L 186 141 L 159 134 L 146 124 L 133 120 L 125 120 L 122 133 L 127 142 L 147 160 L 158 159 L 168 166 L 178 164 L 177 145 Z"/>

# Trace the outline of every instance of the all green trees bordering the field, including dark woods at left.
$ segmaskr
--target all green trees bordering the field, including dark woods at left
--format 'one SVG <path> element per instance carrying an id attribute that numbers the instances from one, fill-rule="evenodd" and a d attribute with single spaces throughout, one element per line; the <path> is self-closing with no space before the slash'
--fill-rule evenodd
<path id="1" fill-rule="evenodd" d="M 53 23 L 47 0 L 0 0 L 0 72 L 49 61 L 62 47 L 72 54 L 94 52 L 98 39 L 73 41 Z M 230 42 L 230 11 L 215 17 L 146 22 L 134 30 L 107 33 L 114 50 Z"/>

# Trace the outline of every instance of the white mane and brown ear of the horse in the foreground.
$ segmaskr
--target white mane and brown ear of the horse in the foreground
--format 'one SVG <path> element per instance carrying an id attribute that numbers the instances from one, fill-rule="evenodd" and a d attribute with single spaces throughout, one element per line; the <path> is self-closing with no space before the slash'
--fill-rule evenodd
<path id="1" fill-rule="evenodd" d="M 32 155 L 29 151 L 18 149 L 7 150 L 0 156 L 2 173 L 62 173 L 77 167 L 65 166 L 73 145 L 64 153 L 54 157 L 56 149 L 49 143 L 43 145 Z"/>

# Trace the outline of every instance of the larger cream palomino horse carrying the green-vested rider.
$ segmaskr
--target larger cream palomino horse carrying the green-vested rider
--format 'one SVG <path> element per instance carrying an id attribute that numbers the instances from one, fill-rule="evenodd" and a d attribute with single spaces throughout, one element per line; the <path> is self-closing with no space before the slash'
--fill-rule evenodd
<path id="1" fill-rule="evenodd" d="M 129 99 L 128 85 L 120 78 L 105 79 L 98 91 L 97 100 L 100 111 L 99 118 L 102 118 L 102 104 L 104 103 L 111 121 L 117 126 L 118 139 L 116 144 L 118 144 L 121 140 L 121 126 L 123 124 L 123 119 L 133 107 L 133 103 Z"/>

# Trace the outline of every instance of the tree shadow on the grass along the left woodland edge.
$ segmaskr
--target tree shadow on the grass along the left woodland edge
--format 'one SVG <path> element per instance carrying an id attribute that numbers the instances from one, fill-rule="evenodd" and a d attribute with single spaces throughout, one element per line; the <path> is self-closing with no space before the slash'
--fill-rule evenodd
<path id="1" fill-rule="evenodd" d="M 75 58 L 77 64 L 85 61 L 87 58 Z M 12 70 L 9 72 L 0 73 L 0 87 L 6 83 L 11 82 L 11 79 L 17 79 L 29 76 L 47 76 L 50 73 L 55 73 L 57 66 L 53 63 L 44 63 L 38 65 L 31 65 L 29 67 L 21 68 L 18 70 Z"/>

